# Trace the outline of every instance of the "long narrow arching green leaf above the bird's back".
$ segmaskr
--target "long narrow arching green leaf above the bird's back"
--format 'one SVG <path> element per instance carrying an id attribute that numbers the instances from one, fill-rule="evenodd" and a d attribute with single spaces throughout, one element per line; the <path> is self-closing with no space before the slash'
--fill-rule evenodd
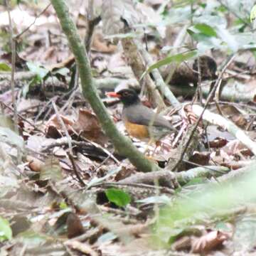
<path id="1" fill-rule="evenodd" d="M 193 58 L 197 55 L 197 50 L 190 50 L 187 51 L 186 53 L 178 53 L 176 55 L 171 55 L 171 56 L 167 56 L 166 58 L 159 60 L 158 62 L 154 63 L 153 65 L 151 65 L 143 74 L 142 74 L 142 78 L 144 77 L 144 75 L 146 75 L 146 73 L 151 72 L 152 70 L 154 70 L 155 68 L 160 68 L 163 65 L 168 65 L 170 63 L 181 63 L 185 60 L 189 60 L 190 58 Z M 142 79 L 141 78 L 141 79 Z"/>

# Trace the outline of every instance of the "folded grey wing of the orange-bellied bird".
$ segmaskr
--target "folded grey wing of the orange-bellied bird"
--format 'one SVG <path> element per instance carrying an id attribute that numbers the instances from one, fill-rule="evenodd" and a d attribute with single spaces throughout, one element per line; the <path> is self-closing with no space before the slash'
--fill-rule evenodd
<path id="1" fill-rule="evenodd" d="M 148 107 L 145 107 L 144 105 L 125 107 L 123 110 L 123 117 L 127 121 L 135 124 L 148 126 L 154 121 L 152 124 L 154 127 L 165 127 L 166 129 L 175 130 L 168 120 L 166 120 L 160 114 L 156 114 L 156 112 Z"/>

